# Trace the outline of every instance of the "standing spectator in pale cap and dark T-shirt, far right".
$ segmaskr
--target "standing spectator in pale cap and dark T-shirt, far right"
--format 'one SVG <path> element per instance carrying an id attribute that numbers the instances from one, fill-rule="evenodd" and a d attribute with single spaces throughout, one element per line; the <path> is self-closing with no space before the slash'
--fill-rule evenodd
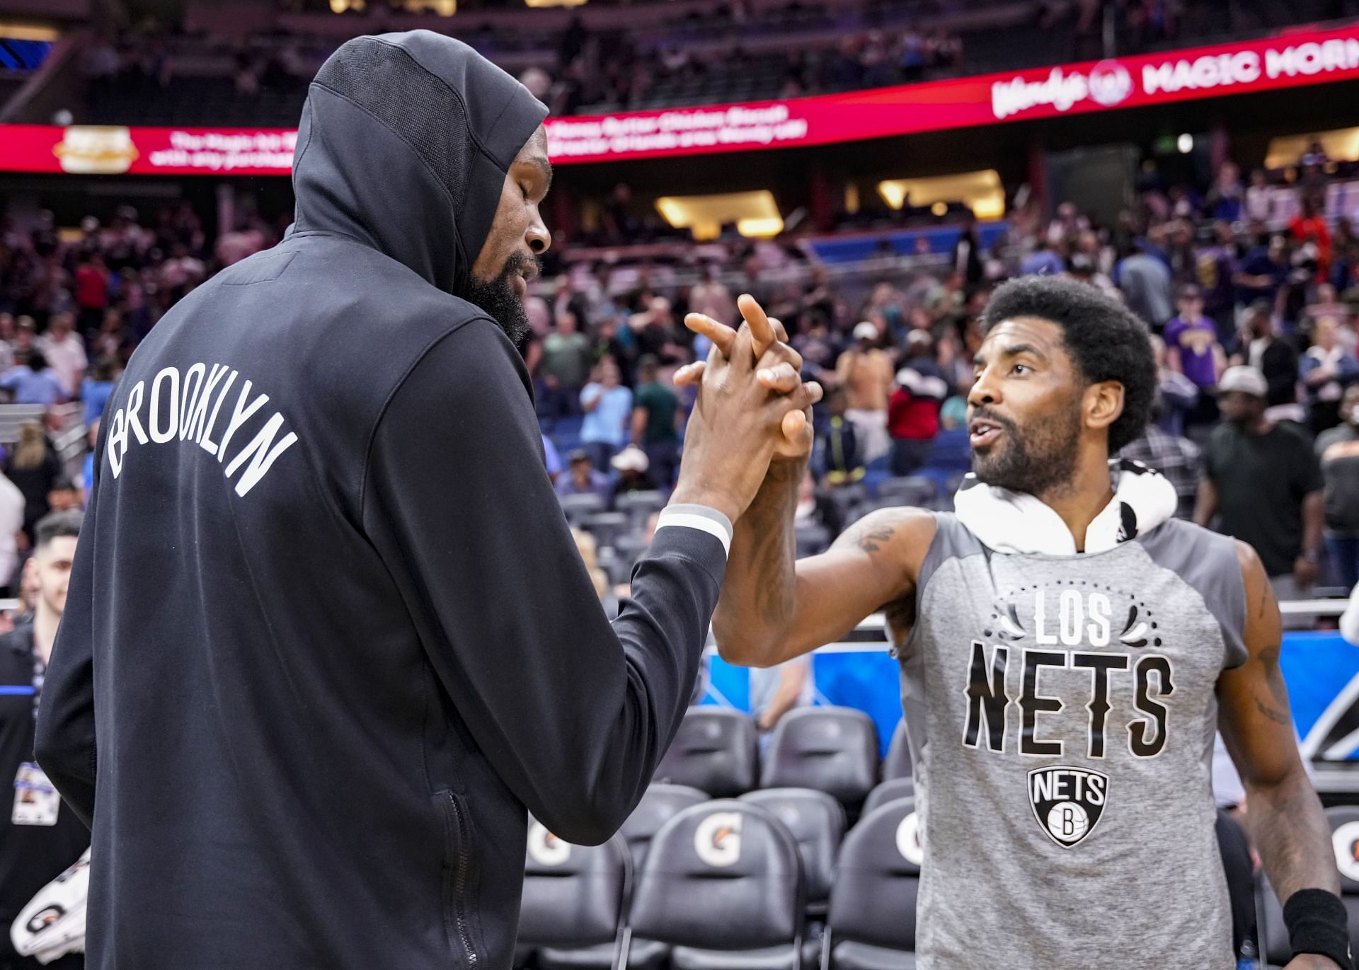
<path id="1" fill-rule="evenodd" d="M 1265 417 L 1265 376 L 1231 367 L 1218 384 L 1222 416 L 1208 440 L 1195 522 L 1249 542 L 1275 596 L 1306 599 L 1321 561 L 1321 469 L 1306 435 Z M 1288 628 L 1290 618 L 1284 617 Z"/>

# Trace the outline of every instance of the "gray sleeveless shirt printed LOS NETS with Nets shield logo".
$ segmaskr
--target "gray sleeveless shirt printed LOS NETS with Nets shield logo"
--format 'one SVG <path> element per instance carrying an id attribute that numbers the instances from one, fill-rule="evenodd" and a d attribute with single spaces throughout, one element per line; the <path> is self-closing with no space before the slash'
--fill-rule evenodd
<path id="1" fill-rule="evenodd" d="M 1011 556 L 940 514 L 897 648 L 924 845 L 921 970 L 1233 970 L 1218 674 L 1233 539 L 1171 519 Z"/>

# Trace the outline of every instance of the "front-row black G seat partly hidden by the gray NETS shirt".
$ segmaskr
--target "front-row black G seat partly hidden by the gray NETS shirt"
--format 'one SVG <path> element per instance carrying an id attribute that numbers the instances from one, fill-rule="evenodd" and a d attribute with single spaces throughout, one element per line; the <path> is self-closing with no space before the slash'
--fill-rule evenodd
<path id="1" fill-rule="evenodd" d="M 913 799 L 889 802 L 849 830 L 830 890 L 822 970 L 915 970 L 920 860 Z"/>

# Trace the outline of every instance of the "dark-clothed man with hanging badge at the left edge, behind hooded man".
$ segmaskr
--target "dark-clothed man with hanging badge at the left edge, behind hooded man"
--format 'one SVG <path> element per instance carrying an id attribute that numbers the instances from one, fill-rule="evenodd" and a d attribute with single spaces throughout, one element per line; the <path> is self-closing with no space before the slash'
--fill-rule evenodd
<path id="1" fill-rule="evenodd" d="M 42 520 L 26 575 L 35 587 L 33 615 L 0 637 L 0 683 L 31 693 L 0 697 L 0 774 L 15 785 L 14 808 L 0 822 L 0 966 L 37 967 L 20 959 L 10 925 L 38 890 L 56 879 L 90 846 L 90 830 L 52 788 L 34 764 L 34 720 L 52 644 L 67 606 L 67 583 L 75 560 L 80 514 Z M 58 958 L 48 967 L 76 970 L 82 955 Z"/>

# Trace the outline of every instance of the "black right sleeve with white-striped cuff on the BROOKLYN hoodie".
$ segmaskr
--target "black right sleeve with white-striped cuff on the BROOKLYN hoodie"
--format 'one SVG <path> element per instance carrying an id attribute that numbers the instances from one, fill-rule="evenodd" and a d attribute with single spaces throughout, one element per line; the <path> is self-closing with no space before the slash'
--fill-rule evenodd
<path id="1" fill-rule="evenodd" d="M 361 505 L 495 770 L 560 837 L 605 841 L 684 717 L 730 522 L 667 509 L 677 527 L 658 528 L 610 624 L 544 470 L 522 364 L 485 319 L 435 344 L 394 391 Z"/>

